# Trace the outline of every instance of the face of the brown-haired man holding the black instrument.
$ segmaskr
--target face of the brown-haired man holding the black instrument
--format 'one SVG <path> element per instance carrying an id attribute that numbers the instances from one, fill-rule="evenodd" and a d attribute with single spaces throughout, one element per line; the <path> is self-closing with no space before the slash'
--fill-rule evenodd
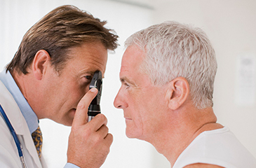
<path id="1" fill-rule="evenodd" d="M 58 73 L 52 67 L 46 74 L 42 118 L 72 125 L 76 106 L 89 90 L 95 71 L 105 73 L 107 49 L 102 43 L 85 43 L 72 48 L 65 67 Z"/>

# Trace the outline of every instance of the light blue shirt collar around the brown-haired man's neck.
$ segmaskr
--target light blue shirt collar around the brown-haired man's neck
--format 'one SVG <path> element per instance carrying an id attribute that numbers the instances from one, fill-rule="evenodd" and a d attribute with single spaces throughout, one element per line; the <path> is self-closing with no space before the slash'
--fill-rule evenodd
<path id="1" fill-rule="evenodd" d="M 5 70 L 2 71 L 0 73 L 0 80 L 2 81 L 2 83 L 4 83 L 8 91 L 11 92 L 11 94 L 13 95 L 15 102 L 18 104 L 20 111 L 27 122 L 29 132 L 32 134 L 32 132 L 37 129 L 39 122 L 36 113 L 34 113 L 31 106 L 29 106 L 27 100 L 23 96 L 20 88 L 15 83 L 15 80 L 13 79 L 13 76 L 11 76 L 11 73 L 9 71 L 7 71 L 7 73 L 5 72 Z"/>

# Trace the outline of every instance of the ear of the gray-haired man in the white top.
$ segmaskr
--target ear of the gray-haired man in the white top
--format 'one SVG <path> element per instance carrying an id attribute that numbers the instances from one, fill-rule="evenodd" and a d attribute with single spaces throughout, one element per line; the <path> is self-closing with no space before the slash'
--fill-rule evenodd
<path id="1" fill-rule="evenodd" d="M 186 78 L 178 77 L 170 81 L 166 91 L 166 101 L 172 110 L 178 109 L 189 96 L 189 83 Z"/>

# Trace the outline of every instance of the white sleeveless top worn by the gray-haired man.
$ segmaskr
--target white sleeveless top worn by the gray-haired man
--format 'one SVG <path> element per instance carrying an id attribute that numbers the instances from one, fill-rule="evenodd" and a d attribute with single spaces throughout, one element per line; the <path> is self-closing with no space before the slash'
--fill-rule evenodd
<path id="1" fill-rule="evenodd" d="M 180 154 L 173 168 L 194 163 L 228 168 L 256 168 L 256 159 L 227 127 L 199 134 Z"/>

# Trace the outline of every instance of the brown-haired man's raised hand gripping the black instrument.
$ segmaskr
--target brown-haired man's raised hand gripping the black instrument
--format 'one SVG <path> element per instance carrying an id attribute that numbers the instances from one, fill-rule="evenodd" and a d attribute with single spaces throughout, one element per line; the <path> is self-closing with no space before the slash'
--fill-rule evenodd
<path id="1" fill-rule="evenodd" d="M 97 89 L 89 90 L 79 102 L 72 130 L 69 135 L 67 162 L 81 168 L 98 168 L 106 160 L 113 137 L 109 134 L 107 118 L 98 114 L 87 123 L 90 102 L 97 94 Z"/>

